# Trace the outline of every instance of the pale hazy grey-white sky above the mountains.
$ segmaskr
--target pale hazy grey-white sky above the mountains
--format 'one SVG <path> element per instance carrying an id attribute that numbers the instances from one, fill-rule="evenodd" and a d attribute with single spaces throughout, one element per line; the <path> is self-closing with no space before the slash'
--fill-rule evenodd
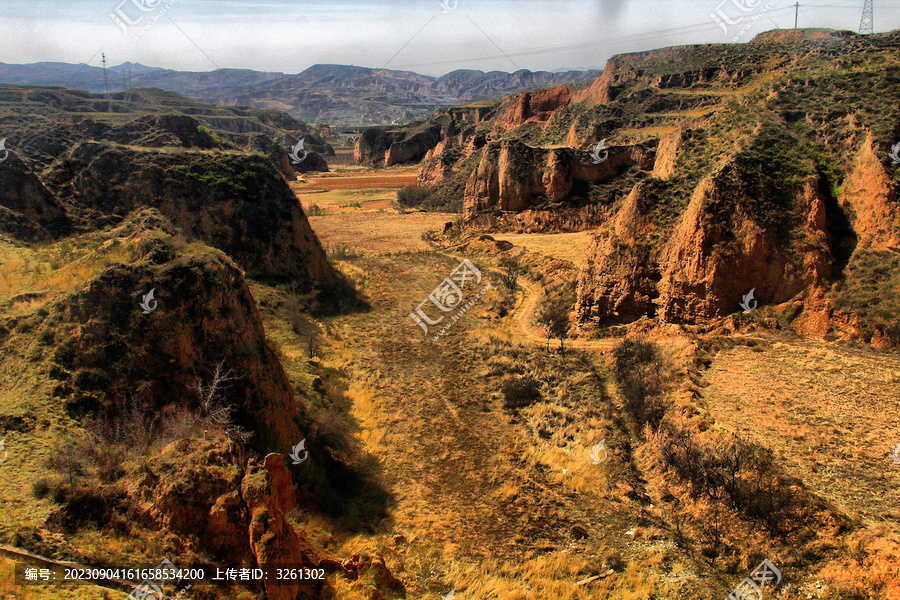
<path id="1" fill-rule="evenodd" d="M 799 26 L 855 31 L 862 6 L 863 0 L 801 2 Z M 710 16 L 717 9 L 722 26 Z M 900 0 L 875 0 L 874 23 L 876 31 L 900 28 Z M 602 67 L 620 52 L 728 42 L 737 35 L 748 41 L 761 31 L 793 27 L 794 2 L 0 0 L 0 26 L 5 63 L 99 66 L 102 51 L 110 65 L 192 71 L 297 73 L 339 63 L 442 75 L 462 68 Z"/>

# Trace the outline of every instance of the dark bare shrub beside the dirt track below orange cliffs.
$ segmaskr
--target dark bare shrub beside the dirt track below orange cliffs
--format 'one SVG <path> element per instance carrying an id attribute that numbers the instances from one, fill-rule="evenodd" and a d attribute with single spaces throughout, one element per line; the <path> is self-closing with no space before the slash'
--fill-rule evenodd
<path id="1" fill-rule="evenodd" d="M 659 347 L 640 338 L 626 338 L 613 348 L 616 383 L 625 409 L 639 426 L 653 429 L 666 412 L 665 364 Z"/>

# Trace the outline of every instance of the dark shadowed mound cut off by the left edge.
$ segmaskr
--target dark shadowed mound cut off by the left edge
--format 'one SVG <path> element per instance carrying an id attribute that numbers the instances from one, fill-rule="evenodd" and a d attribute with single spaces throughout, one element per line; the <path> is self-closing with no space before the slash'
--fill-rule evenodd
<path id="1" fill-rule="evenodd" d="M 71 229 L 65 209 L 13 152 L 0 163 L 0 232 L 47 241 Z"/>

